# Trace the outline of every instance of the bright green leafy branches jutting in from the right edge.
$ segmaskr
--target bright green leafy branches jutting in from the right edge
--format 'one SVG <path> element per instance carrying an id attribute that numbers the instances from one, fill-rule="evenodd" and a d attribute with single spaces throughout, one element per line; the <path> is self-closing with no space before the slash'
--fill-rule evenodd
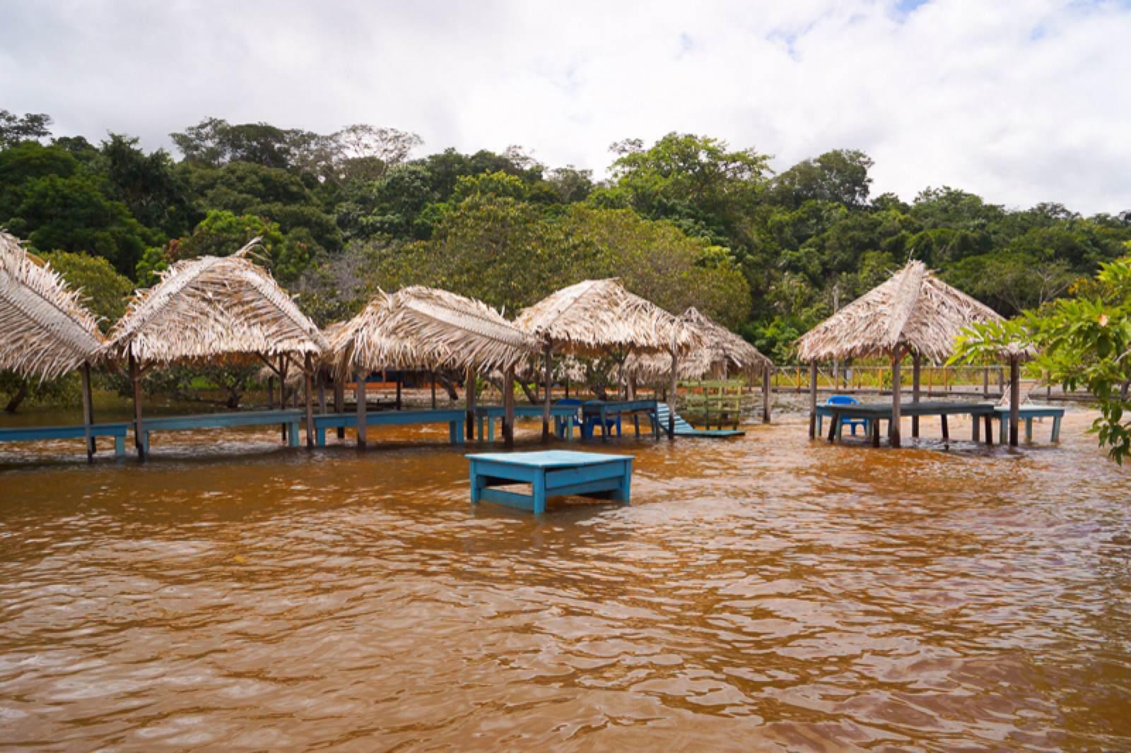
<path id="1" fill-rule="evenodd" d="M 992 356 L 1010 344 L 1037 350 L 1027 366 L 1033 375 L 1096 396 L 1100 416 L 1091 431 L 1100 447 L 1120 464 L 1131 455 L 1131 258 L 1105 263 L 1073 297 L 973 328 L 952 361 Z"/>

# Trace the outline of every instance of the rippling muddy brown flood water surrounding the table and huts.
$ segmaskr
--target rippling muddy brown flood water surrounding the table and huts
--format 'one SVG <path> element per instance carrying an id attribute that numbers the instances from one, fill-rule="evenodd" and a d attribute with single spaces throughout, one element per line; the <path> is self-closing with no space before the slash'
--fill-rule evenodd
<path id="1" fill-rule="evenodd" d="M 541 519 L 472 509 L 446 426 L 3 447 L 0 744 L 1125 750 L 1131 477 L 1090 419 L 625 439 L 631 507 Z"/>

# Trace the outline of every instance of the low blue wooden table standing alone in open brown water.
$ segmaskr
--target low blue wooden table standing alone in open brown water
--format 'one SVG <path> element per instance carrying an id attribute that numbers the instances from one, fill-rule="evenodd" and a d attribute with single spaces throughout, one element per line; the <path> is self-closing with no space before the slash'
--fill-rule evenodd
<path id="1" fill-rule="evenodd" d="M 629 504 L 632 456 L 549 450 L 469 455 L 472 504 L 481 500 L 542 513 L 551 496 L 579 494 Z M 497 486 L 529 484 L 530 494 Z"/>

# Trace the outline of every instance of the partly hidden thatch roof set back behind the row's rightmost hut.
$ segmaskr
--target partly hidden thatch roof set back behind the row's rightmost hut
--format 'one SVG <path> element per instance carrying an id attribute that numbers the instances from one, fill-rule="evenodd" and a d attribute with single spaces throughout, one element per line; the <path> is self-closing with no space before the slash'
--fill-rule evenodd
<path id="1" fill-rule="evenodd" d="M 722 375 L 727 371 L 757 373 L 774 367 L 774 362 L 758 348 L 735 335 L 726 327 L 713 321 L 696 308 L 683 312 L 680 320 L 699 332 L 702 347 L 693 348 L 679 360 L 676 375 L 680 379 L 702 379 Z M 667 354 L 632 355 L 624 362 L 625 373 L 640 380 L 666 378 L 672 372 L 672 356 Z"/>

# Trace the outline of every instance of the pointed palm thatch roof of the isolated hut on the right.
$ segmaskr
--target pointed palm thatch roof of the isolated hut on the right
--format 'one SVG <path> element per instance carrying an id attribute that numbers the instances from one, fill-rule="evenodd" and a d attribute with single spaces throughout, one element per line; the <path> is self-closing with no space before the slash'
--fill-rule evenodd
<path id="1" fill-rule="evenodd" d="M 910 261 L 797 340 L 804 362 L 893 353 L 906 346 L 939 362 L 974 322 L 1000 321 L 988 306 L 947 285 L 922 261 Z"/>

